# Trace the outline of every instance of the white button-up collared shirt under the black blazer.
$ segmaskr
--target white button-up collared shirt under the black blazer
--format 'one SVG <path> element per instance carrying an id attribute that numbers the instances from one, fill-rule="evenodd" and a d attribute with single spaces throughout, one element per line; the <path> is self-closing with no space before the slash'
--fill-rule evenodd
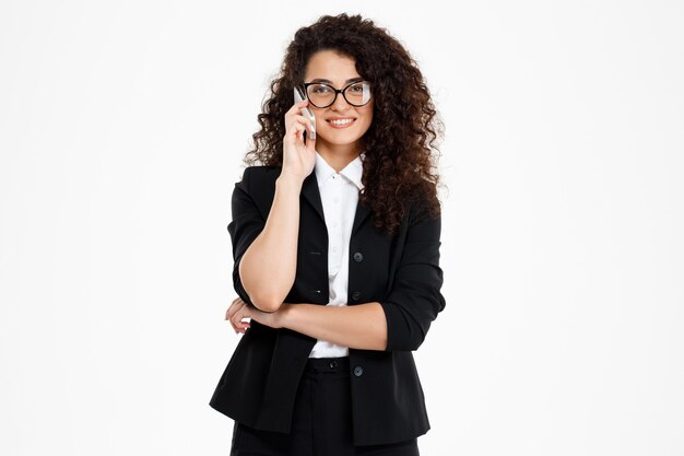
<path id="1" fill-rule="evenodd" d="M 365 154 L 354 159 L 340 173 L 335 172 L 316 151 L 314 167 L 320 199 L 323 204 L 326 226 L 328 227 L 328 283 L 330 296 L 327 305 L 346 305 L 349 287 L 350 237 L 356 215 L 358 190 L 363 174 L 362 160 Z M 318 340 L 309 358 L 347 356 L 349 347 L 338 346 L 327 340 Z"/>

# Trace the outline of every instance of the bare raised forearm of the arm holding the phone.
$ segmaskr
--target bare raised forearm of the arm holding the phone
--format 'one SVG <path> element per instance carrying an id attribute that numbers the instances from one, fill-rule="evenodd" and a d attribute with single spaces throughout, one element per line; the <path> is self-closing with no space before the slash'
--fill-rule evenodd
<path id="1" fill-rule="evenodd" d="M 278 178 L 264 227 L 239 264 L 245 291 L 264 312 L 279 308 L 295 280 L 302 184 L 296 178 Z"/>

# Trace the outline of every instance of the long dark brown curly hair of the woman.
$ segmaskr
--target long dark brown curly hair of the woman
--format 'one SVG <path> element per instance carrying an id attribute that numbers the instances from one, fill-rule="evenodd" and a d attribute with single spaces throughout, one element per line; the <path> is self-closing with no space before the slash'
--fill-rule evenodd
<path id="1" fill-rule="evenodd" d="M 392 236 L 405 211 L 417 202 L 417 220 L 437 217 L 439 175 L 434 145 L 444 135 L 416 62 L 406 49 L 361 15 L 323 15 L 299 28 L 287 46 L 270 96 L 258 116 L 261 129 L 252 135 L 247 165 L 282 166 L 285 113 L 294 104 L 293 87 L 304 82 L 309 58 L 319 50 L 333 50 L 355 60 L 356 71 L 373 84 L 373 122 L 362 138 L 363 161 L 359 202 L 368 204 L 376 229 Z"/>

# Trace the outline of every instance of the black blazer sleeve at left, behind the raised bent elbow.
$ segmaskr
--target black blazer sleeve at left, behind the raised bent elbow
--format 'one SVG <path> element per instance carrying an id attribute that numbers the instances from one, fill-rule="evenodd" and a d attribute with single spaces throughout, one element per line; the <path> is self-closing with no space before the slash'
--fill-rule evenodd
<path id="1" fill-rule="evenodd" d="M 235 184 L 231 199 L 233 220 L 228 224 L 228 233 L 233 244 L 233 288 L 246 303 L 252 304 L 243 287 L 239 276 L 239 264 L 243 255 L 257 238 L 266 225 L 266 220 L 249 194 L 251 168 L 246 168 L 243 179 Z"/>

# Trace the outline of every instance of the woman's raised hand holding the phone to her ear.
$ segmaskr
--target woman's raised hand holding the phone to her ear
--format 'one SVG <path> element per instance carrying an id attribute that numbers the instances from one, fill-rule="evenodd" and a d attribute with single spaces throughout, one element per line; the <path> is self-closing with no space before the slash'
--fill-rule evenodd
<path id="1" fill-rule="evenodd" d="M 311 139 L 311 121 L 300 114 L 308 100 L 295 103 L 285 113 L 285 138 L 283 138 L 283 168 L 281 176 L 293 176 L 304 180 L 316 165 L 316 140 Z M 304 143 L 306 131 L 306 144 Z"/>

